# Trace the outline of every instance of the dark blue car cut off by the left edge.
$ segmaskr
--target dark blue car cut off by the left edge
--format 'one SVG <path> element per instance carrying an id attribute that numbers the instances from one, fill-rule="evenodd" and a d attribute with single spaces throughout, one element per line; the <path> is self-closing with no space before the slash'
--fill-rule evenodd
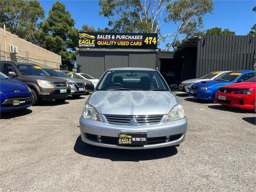
<path id="1" fill-rule="evenodd" d="M 0 72 L 0 112 L 26 109 L 32 100 L 31 91 L 25 83 L 9 79 Z"/>

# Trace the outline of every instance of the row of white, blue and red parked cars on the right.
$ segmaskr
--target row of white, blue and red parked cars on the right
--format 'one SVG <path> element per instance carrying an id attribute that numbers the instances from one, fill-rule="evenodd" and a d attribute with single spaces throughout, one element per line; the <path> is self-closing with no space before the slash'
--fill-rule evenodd
<path id="1" fill-rule="evenodd" d="M 218 75 L 206 81 L 204 76 L 200 81 L 198 79 L 182 81 L 180 90 L 188 92 L 196 99 L 214 101 L 224 106 L 241 109 L 255 109 L 256 72 L 254 70 L 212 72 L 211 74 Z"/>

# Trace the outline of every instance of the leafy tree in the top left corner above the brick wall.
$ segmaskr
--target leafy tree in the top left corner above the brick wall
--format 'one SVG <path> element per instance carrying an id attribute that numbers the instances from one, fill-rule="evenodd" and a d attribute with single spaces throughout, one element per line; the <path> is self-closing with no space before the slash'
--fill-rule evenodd
<path id="1" fill-rule="evenodd" d="M 44 19 L 44 9 L 38 1 L 1 0 L 0 27 L 38 44 L 39 21 Z"/>

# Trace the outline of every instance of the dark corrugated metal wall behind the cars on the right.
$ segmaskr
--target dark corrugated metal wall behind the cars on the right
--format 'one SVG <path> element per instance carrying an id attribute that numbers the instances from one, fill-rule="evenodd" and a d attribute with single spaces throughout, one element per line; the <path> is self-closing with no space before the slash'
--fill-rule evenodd
<path id="1" fill-rule="evenodd" d="M 256 38 L 250 36 L 202 36 L 198 40 L 196 77 L 216 70 L 252 70 Z"/>

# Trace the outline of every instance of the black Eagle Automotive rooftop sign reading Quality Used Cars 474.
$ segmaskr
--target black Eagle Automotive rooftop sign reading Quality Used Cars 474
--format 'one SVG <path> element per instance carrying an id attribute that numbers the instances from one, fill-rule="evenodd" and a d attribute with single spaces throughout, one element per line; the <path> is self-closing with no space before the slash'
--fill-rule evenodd
<path id="1" fill-rule="evenodd" d="M 157 49 L 157 33 L 79 32 L 79 48 Z"/>

